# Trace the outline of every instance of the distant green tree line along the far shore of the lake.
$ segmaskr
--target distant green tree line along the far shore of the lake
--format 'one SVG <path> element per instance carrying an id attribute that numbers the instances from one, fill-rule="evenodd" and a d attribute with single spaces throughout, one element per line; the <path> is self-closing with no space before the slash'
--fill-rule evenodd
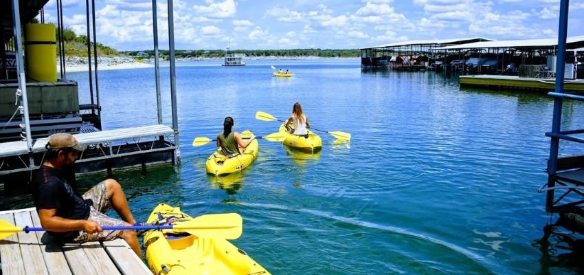
<path id="1" fill-rule="evenodd" d="M 177 58 L 223 58 L 225 50 L 175 50 Z M 246 54 L 251 57 L 317 56 L 317 57 L 357 57 L 359 49 L 291 49 L 291 50 L 231 50 L 230 54 Z M 134 58 L 154 58 L 154 50 L 125 51 L 122 54 Z M 168 58 L 168 50 L 159 50 L 161 58 Z"/>

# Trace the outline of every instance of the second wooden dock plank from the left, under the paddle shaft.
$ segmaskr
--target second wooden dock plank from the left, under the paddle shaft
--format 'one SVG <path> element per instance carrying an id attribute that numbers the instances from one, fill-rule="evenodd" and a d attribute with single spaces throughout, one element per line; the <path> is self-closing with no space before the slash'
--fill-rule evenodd
<path id="1" fill-rule="evenodd" d="M 14 223 L 17 226 L 25 227 L 32 225 L 32 218 L 30 212 L 16 212 L 14 213 Z M 36 234 L 21 232 L 19 235 L 19 243 L 21 245 L 21 254 L 24 263 L 24 270 L 26 274 L 49 274 L 41 246 L 38 245 Z"/>

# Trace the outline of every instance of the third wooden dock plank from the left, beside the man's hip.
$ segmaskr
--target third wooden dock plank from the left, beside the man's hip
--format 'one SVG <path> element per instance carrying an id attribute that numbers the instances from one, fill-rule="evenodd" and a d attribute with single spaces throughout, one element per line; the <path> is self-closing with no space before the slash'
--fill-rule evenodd
<path id="1" fill-rule="evenodd" d="M 35 227 L 41 227 L 41 221 L 38 219 L 38 213 L 36 210 L 30 212 L 30 217 L 32 217 L 32 224 Z M 47 265 L 47 270 L 49 270 L 49 274 L 63 274 L 69 275 L 71 274 L 71 270 L 69 270 L 69 264 L 67 264 L 67 259 L 65 259 L 65 254 L 63 254 L 63 250 L 61 250 L 60 245 L 50 241 L 50 238 L 45 236 L 45 243 L 43 243 L 43 235 L 47 234 L 43 231 L 36 232 L 36 239 L 38 239 L 38 243 L 41 244 L 41 252 L 43 252 L 43 258 L 45 259 L 45 264 Z"/>

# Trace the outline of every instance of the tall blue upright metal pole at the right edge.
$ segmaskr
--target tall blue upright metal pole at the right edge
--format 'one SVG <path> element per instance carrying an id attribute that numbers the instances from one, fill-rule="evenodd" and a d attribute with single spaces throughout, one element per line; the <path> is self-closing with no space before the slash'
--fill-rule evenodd
<path id="1" fill-rule="evenodd" d="M 560 20 L 559 20 L 559 30 L 558 30 L 558 56 L 556 59 L 556 93 L 561 93 L 563 91 L 563 77 L 565 68 L 565 41 L 568 36 L 568 0 L 560 1 Z M 552 119 L 552 133 L 559 133 L 561 131 L 561 119 L 562 119 L 562 98 L 554 99 L 554 117 Z M 560 140 L 558 137 L 551 137 L 550 142 L 550 160 L 548 161 L 548 188 L 553 188 L 555 186 L 554 176 L 557 173 L 558 164 L 558 152 L 559 152 Z M 554 190 L 548 190 L 546 197 L 546 208 L 551 209 L 552 203 L 554 201 Z"/>

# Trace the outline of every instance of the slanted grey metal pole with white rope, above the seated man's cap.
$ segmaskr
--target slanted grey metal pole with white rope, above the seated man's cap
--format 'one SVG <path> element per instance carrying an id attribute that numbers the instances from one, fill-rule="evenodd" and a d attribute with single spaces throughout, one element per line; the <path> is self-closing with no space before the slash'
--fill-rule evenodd
<path id="1" fill-rule="evenodd" d="M 26 96 L 26 77 L 24 74 L 24 63 L 22 60 L 22 30 L 21 30 L 21 15 L 19 0 L 12 0 L 12 27 L 14 29 L 14 39 L 16 39 L 16 70 L 19 72 L 19 89 L 22 93 L 21 98 L 21 115 L 24 122 L 24 130 L 26 133 L 26 145 L 28 147 L 28 155 L 31 166 L 34 165 L 32 158 L 32 138 L 30 137 L 30 120 L 28 117 L 28 99 Z M 18 91 L 16 91 L 18 93 Z M 19 108 L 20 108 L 19 107 Z M 21 125 L 22 127 L 23 125 Z"/>

